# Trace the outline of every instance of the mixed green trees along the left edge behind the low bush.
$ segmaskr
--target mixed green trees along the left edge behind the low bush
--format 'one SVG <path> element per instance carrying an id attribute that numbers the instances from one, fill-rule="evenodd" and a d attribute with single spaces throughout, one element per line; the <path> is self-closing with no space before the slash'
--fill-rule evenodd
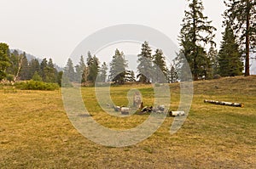
<path id="1" fill-rule="evenodd" d="M 0 43 L 0 81 L 4 78 L 8 81 L 41 81 L 61 83 L 62 72 L 58 72 L 52 59 L 26 58 L 26 53 L 19 54 L 17 50 L 10 52 L 9 45 Z"/>

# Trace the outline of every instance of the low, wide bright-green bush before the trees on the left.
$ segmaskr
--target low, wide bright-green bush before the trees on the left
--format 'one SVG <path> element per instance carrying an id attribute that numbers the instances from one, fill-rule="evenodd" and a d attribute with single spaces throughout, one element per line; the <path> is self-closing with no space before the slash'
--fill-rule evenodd
<path id="1" fill-rule="evenodd" d="M 16 88 L 21 90 L 56 90 L 59 85 L 56 83 L 38 82 L 38 81 L 28 81 L 28 82 L 17 82 L 15 83 Z"/>

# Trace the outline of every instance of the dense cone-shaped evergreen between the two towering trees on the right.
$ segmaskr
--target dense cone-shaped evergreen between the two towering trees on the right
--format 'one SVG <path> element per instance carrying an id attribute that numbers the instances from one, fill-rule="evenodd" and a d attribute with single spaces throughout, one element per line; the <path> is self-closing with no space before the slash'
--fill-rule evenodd
<path id="1" fill-rule="evenodd" d="M 223 33 L 223 41 L 218 53 L 218 63 L 220 76 L 238 76 L 242 74 L 241 53 L 230 25 L 226 25 Z"/>

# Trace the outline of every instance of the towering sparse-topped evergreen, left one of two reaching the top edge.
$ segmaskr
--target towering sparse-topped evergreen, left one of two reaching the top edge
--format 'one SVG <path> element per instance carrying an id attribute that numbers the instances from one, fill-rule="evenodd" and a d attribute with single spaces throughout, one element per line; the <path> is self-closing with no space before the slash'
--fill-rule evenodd
<path id="1" fill-rule="evenodd" d="M 191 0 L 189 10 L 185 11 L 179 37 L 182 47 L 180 53 L 187 59 L 194 80 L 207 76 L 206 65 L 209 65 L 209 59 L 202 46 L 215 44 L 212 39 L 216 29 L 211 26 L 212 21 L 208 21 L 207 16 L 202 14 L 202 10 L 201 0 Z"/>

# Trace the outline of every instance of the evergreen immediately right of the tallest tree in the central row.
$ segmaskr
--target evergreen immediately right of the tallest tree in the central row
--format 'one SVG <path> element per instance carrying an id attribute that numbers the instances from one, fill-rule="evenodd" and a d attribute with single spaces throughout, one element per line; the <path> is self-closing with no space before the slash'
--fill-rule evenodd
<path id="1" fill-rule="evenodd" d="M 155 54 L 153 55 L 154 63 L 154 81 L 155 82 L 166 82 L 167 68 L 165 57 L 163 52 L 160 49 L 156 49 Z"/>

